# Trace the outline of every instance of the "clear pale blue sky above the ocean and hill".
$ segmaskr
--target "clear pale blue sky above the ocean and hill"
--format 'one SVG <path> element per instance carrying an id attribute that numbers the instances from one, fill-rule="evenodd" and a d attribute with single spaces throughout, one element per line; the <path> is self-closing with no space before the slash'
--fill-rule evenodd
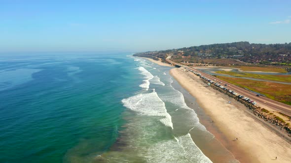
<path id="1" fill-rule="evenodd" d="M 291 42 L 291 0 L 0 0 L 0 52 L 141 52 L 236 41 Z"/>

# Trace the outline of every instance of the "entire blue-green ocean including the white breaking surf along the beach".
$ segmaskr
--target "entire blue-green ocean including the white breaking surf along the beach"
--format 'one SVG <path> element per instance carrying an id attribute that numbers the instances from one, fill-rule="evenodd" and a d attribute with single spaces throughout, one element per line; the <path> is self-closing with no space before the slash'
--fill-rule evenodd
<path id="1" fill-rule="evenodd" d="M 0 163 L 211 163 L 192 138 L 214 136 L 171 67 L 129 53 L 0 56 Z"/>

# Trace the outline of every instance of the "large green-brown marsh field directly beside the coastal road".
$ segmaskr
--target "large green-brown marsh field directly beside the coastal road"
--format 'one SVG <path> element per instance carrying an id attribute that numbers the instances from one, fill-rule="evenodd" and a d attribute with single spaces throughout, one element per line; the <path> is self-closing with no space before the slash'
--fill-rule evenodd
<path id="1" fill-rule="evenodd" d="M 270 99 L 291 105 L 291 85 L 289 84 L 280 84 L 268 81 L 254 81 L 223 76 L 217 76 L 217 78 L 234 85 L 245 87 L 249 90 L 264 94 Z"/>

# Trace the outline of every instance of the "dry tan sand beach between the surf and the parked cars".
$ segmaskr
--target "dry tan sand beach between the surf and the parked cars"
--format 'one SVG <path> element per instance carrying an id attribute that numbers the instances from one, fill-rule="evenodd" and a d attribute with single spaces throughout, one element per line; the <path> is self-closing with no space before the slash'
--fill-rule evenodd
<path id="1" fill-rule="evenodd" d="M 276 157 L 277 162 L 291 163 L 291 144 L 255 119 L 242 104 L 205 87 L 199 77 L 183 68 L 172 69 L 170 74 L 214 120 L 219 132 L 213 134 L 241 163 L 271 163 Z"/>

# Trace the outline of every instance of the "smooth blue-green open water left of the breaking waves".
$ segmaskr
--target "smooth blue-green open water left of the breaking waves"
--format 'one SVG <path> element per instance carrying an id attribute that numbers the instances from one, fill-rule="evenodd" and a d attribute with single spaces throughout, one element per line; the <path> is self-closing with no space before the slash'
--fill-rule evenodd
<path id="1" fill-rule="evenodd" d="M 63 162 L 80 144 L 77 155 L 108 150 L 124 123 L 121 100 L 142 78 L 126 55 L 1 57 L 0 162 Z"/>

